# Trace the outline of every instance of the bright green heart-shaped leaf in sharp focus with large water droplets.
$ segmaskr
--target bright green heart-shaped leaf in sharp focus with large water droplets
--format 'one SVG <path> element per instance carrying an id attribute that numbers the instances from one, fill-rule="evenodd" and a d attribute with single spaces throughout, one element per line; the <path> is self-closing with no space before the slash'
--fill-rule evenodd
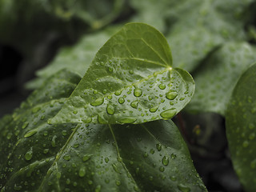
<path id="1" fill-rule="evenodd" d="M 96 54 L 69 101 L 49 122 L 142 123 L 174 117 L 190 102 L 194 81 L 172 66 L 166 38 L 130 23 Z"/>

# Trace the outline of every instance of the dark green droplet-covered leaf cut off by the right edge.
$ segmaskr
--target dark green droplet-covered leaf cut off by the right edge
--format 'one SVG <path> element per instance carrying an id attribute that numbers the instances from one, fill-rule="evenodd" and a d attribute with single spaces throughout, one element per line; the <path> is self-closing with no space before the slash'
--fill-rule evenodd
<path id="1" fill-rule="evenodd" d="M 226 110 L 226 136 L 234 170 L 245 190 L 256 190 L 256 64 L 250 66 L 234 88 Z"/>

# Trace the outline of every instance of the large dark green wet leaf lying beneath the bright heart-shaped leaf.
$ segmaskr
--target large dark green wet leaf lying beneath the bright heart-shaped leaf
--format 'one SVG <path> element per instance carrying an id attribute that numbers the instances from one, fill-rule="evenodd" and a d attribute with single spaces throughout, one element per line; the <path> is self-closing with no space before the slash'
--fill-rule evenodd
<path id="1" fill-rule="evenodd" d="M 2 118 L 1 191 L 206 191 L 171 121 L 49 125 L 79 80 L 61 70 Z"/>

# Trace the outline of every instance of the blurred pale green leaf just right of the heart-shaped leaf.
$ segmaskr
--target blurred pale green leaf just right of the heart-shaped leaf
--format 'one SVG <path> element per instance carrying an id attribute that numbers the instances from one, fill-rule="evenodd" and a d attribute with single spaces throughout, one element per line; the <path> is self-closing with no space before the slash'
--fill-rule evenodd
<path id="1" fill-rule="evenodd" d="M 193 75 L 197 89 L 186 110 L 224 115 L 238 78 L 255 60 L 256 49 L 246 42 L 230 42 L 214 51 Z"/>

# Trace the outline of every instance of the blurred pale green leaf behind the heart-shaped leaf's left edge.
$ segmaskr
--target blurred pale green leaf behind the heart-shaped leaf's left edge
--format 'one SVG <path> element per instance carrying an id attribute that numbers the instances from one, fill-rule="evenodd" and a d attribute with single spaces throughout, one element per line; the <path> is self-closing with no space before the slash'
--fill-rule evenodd
<path id="1" fill-rule="evenodd" d="M 46 78 L 62 69 L 70 70 L 82 77 L 89 68 L 95 53 L 119 28 L 119 26 L 111 26 L 98 33 L 86 34 L 75 46 L 63 47 L 53 62 L 42 70 L 38 70 L 38 78 L 28 82 L 26 87 L 38 88 L 43 85 Z"/>

